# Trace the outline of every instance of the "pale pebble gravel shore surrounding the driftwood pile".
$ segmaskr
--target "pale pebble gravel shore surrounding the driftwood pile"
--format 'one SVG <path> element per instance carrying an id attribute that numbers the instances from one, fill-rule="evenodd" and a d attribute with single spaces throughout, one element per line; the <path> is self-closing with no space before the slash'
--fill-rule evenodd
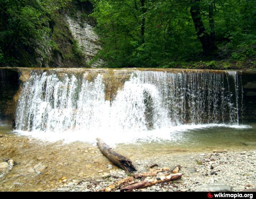
<path id="1" fill-rule="evenodd" d="M 138 172 L 145 172 L 151 160 L 136 160 Z M 159 166 L 182 166 L 182 178 L 134 191 L 242 191 L 256 188 L 256 151 L 180 154 L 176 158 L 159 157 Z M 121 169 L 108 165 L 99 171 L 101 178 L 65 181 L 51 191 L 99 191 L 127 177 Z M 119 190 L 117 190 L 119 191 Z"/>

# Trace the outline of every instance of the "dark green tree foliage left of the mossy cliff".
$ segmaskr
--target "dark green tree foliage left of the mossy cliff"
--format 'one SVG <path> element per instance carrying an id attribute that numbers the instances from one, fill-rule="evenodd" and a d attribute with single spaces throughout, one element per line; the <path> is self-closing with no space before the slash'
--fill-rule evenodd
<path id="1" fill-rule="evenodd" d="M 69 0 L 0 0 L 0 64 L 29 66 L 45 54 L 50 15 Z"/>

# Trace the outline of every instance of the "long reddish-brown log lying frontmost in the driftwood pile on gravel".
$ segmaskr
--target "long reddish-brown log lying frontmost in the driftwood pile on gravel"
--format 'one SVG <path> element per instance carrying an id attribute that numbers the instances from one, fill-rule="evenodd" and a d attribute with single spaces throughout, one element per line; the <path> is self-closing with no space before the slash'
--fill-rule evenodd
<path id="1" fill-rule="evenodd" d="M 138 182 L 138 183 L 134 183 L 132 185 L 128 185 L 126 187 L 123 187 L 120 189 L 120 191 L 132 191 L 134 189 L 141 189 L 141 188 L 145 188 L 145 187 L 149 187 L 155 184 L 159 184 L 159 183 L 166 183 L 172 180 L 176 180 L 181 178 L 182 173 L 176 173 L 176 174 L 172 174 L 169 176 L 160 176 L 160 177 L 156 177 L 154 179 L 150 179 L 150 180 L 144 180 L 142 182 Z"/>

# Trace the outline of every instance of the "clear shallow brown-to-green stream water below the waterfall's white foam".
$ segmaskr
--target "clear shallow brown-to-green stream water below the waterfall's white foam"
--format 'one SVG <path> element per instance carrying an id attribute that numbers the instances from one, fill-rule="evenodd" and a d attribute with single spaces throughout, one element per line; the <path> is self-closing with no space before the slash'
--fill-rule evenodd
<path id="1" fill-rule="evenodd" d="M 248 127 L 249 125 L 250 127 Z M 242 127 L 242 128 L 241 128 Z M 133 143 L 116 144 L 115 150 L 131 158 L 137 167 L 145 167 L 151 162 L 173 158 L 173 164 L 190 164 L 186 156 L 195 152 L 207 153 L 213 149 L 253 150 L 256 149 L 256 123 L 249 123 L 239 128 L 214 126 L 201 129 L 169 133 L 174 139 L 158 139 L 150 142 L 137 141 Z M 66 176 L 73 179 L 100 179 L 102 172 L 121 171 L 113 167 L 98 150 L 95 143 L 87 142 L 49 142 L 46 139 L 36 139 L 14 133 L 11 126 L 0 126 L 0 160 L 11 158 L 18 164 L 0 178 L 1 191 L 42 191 L 60 187 L 59 179 Z M 131 136 L 131 135 L 126 135 Z M 113 139 L 113 138 L 112 138 Z M 106 139 L 108 141 L 108 139 Z M 104 140 L 105 141 L 105 140 Z M 108 143 L 105 141 L 106 143 Z M 197 153 L 198 154 L 198 153 Z M 182 158 L 184 160 L 182 160 Z M 193 159 L 195 160 L 195 159 Z M 182 162 L 183 161 L 183 162 Z M 35 165 L 41 163 L 46 169 L 37 174 Z M 194 164 L 191 162 L 191 165 Z M 173 167 L 174 165 L 167 165 Z"/>

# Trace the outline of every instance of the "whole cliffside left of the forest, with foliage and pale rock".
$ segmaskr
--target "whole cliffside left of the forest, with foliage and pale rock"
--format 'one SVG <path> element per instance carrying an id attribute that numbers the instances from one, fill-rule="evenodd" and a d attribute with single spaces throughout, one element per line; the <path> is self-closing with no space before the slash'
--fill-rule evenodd
<path id="1" fill-rule="evenodd" d="M 100 66 L 93 5 L 84 0 L 0 0 L 0 66 Z"/>

